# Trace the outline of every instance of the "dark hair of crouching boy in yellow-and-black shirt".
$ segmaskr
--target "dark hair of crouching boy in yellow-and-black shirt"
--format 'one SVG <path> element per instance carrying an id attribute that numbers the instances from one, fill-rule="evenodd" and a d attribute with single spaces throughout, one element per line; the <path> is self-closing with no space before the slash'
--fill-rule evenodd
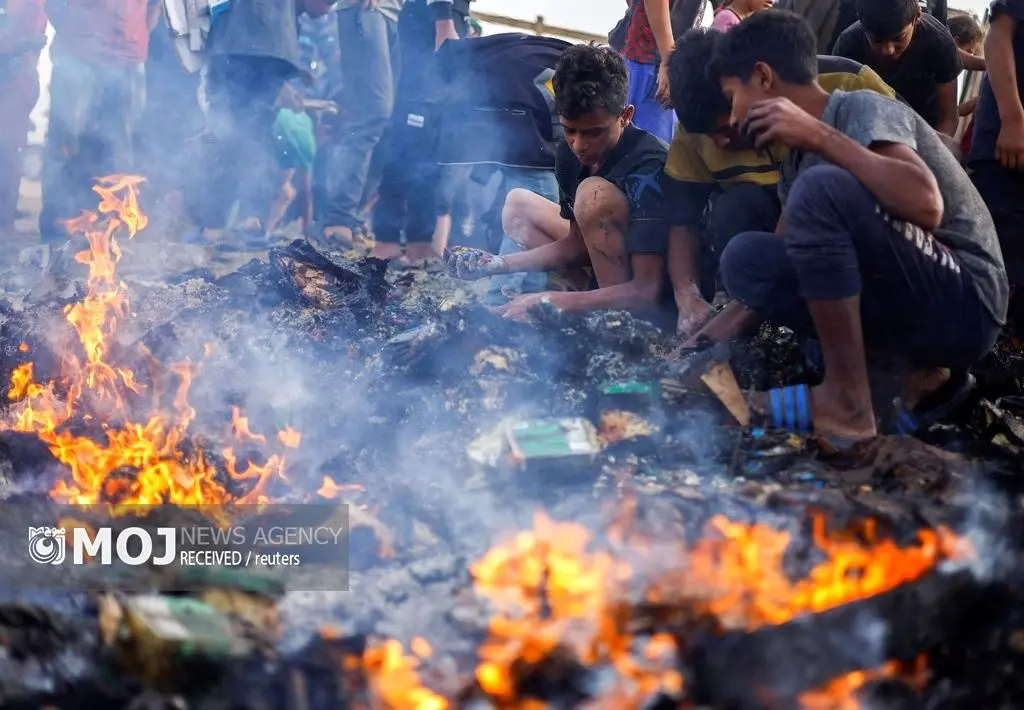
<path id="1" fill-rule="evenodd" d="M 689 30 L 669 55 L 669 87 L 676 116 L 687 133 L 711 133 L 729 113 L 718 75 L 712 72 L 715 48 L 724 35 L 712 29 Z"/>

